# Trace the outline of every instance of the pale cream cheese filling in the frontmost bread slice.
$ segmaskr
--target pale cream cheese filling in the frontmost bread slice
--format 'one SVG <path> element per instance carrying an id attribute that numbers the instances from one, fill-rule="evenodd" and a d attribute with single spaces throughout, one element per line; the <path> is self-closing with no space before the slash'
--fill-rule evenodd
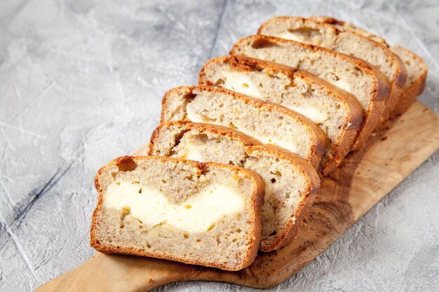
<path id="1" fill-rule="evenodd" d="M 219 184 L 206 186 L 182 204 L 174 204 L 154 188 L 114 181 L 105 190 L 103 206 L 129 210 L 131 216 L 151 228 L 166 224 L 188 232 L 204 232 L 221 218 L 241 211 L 245 202 L 238 191 Z"/>

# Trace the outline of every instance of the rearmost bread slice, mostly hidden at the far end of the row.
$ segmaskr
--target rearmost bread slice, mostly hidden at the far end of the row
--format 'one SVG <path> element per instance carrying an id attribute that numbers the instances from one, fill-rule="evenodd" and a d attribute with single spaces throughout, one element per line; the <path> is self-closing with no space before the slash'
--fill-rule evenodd
<path id="1" fill-rule="evenodd" d="M 371 34 L 370 32 L 367 32 L 367 30 L 351 25 L 348 22 L 336 20 L 335 18 L 327 18 L 325 16 L 313 16 L 313 19 L 333 25 L 339 29 L 346 29 L 356 32 L 357 34 L 362 34 L 378 43 L 382 43 L 403 60 L 405 67 L 407 68 L 407 81 L 405 83 L 403 97 L 399 99 L 398 104 L 396 104 L 390 114 L 390 118 L 405 113 L 405 111 L 407 111 L 407 109 L 416 101 L 417 95 L 421 95 L 424 91 L 428 67 L 424 60 L 411 50 L 407 50 L 401 46 L 389 46 L 386 40 L 381 38 L 381 36 Z"/>

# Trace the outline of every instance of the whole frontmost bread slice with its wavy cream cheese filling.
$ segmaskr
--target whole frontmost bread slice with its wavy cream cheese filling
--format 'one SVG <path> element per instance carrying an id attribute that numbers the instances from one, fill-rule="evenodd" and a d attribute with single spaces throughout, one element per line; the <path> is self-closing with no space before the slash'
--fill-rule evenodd
<path id="1" fill-rule="evenodd" d="M 90 244 L 123 253 L 241 270 L 261 235 L 264 181 L 215 162 L 125 156 L 102 167 Z"/>

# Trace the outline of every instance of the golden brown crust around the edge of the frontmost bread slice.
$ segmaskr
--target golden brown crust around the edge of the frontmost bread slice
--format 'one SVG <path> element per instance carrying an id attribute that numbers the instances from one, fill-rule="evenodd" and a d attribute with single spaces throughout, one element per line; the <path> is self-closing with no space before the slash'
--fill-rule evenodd
<path id="1" fill-rule="evenodd" d="M 192 165 L 194 167 L 197 167 L 200 169 L 201 172 L 203 172 L 204 169 L 214 166 L 214 167 L 220 167 L 220 168 L 228 168 L 235 172 L 240 172 L 243 176 L 246 176 L 248 179 L 251 179 L 253 181 L 253 186 L 255 186 L 253 192 L 252 192 L 252 209 L 254 212 L 251 216 L 251 221 L 254 222 L 252 224 L 252 230 L 249 232 L 248 241 L 250 242 L 250 249 L 248 249 L 245 258 L 246 260 L 237 267 L 229 267 L 224 264 L 218 264 L 215 262 L 201 262 L 200 260 L 189 260 L 186 258 L 176 258 L 174 256 L 169 256 L 166 253 L 149 253 L 145 250 L 135 249 L 135 248 L 124 248 L 121 246 L 110 246 L 110 245 L 104 245 L 102 244 L 99 239 L 96 237 L 96 229 L 98 228 L 97 225 L 99 225 L 98 222 L 98 214 L 100 213 L 102 209 L 102 202 L 103 202 L 103 193 L 102 193 L 102 187 L 100 186 L 98 182 L 98 177 L 106 171 L 109 167 L 112 167 L 114 165 L 117 165 L 119 162 L 123 160 L 132 160 L 132 161 L 138 161 L 138 160 L 158 160 L 161 162 L 166 161 L 175 161 L 180 163 L 186 163 L 188 165 Z M 166 260 L 175 260 L 181 263 L 188 263 L 191 265 L 205 265 L 208 267 L 217 267 L 222 270 L 241 270 L 244 267 L 247 267 L 250 265 L 253 260 L 255 260 L 255 257 L 257 255 L 257 250 L 259 248 L 259 242 L 261 237 L 261 209 L 262 204 L 264 200 L 264 181 L 262 181 L 259 174 L 251 171 L 250 169 L 244 169 L 242 167 L 236 167 L 233 165 L 223 165 L 216 162 L 195 162 L 191 160 L 180 160 L 177 158 L 169 158 L 169 157 L 163 157 L 163 156 L 123 156 L 120 158 L 116 158 L 109 162 L 107 165 L 104 165 L 104 167 L 101 167 L 101 169 L 97 172 L 97 175 L 95 177 L 95 186 L 99 193 L 98 199 L 97 199 L 97 207 L 95 211 L 93 212 L 93 218 L 92 223 L 90 227 L 90 246 L 92 246 L 97 251 L 100 251 L 102 253 L 121 253 L 121 254 L 128 254 L 133 256 L 149 256 L 153 258 L 163 258 Z"/>

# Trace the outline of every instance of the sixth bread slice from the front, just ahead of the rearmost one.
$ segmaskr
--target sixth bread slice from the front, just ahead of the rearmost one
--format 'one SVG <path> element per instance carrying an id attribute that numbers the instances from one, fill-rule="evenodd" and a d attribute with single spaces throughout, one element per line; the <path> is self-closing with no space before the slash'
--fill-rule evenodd
<path id="1" fill-rule="evenodd" d="M 277 36 L 302 43 L 311 43 L 339 53 L 365 60 L 377 67 L 386 76 L 390 85 L 381 123 L 387 120 L 398 104 L 407 80 L 407 70 L 402 60 L 383 43 L 351 30 L 319 22 L 313 18 L 276 17 L 266 21 L 257 32 L 266 36 Z"/>

